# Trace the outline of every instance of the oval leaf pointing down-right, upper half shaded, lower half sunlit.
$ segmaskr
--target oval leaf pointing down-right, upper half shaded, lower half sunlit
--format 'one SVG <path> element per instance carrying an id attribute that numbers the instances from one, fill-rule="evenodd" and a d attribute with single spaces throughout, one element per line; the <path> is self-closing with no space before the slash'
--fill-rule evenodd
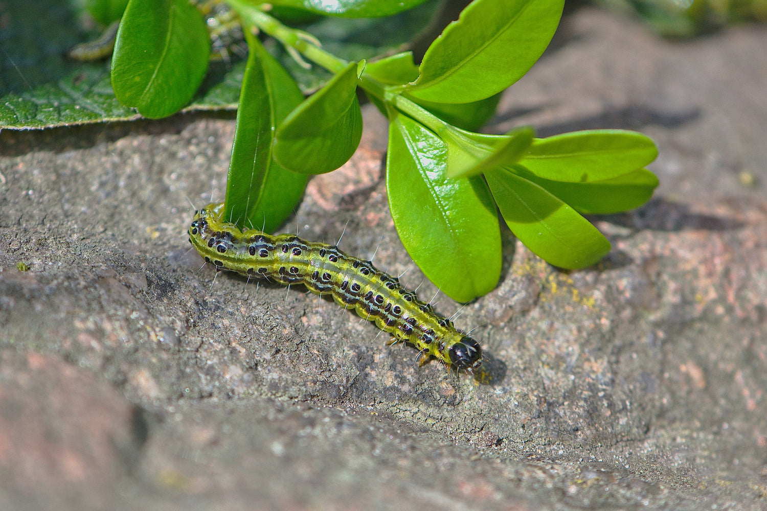
<path id="1" fill-rule="evenodd" d="M 555 266 L 591 266 L 610 251 L 597 228 L 540 185 L 508 169 L 486 172 L 501 215 L 519 241 Z"/>

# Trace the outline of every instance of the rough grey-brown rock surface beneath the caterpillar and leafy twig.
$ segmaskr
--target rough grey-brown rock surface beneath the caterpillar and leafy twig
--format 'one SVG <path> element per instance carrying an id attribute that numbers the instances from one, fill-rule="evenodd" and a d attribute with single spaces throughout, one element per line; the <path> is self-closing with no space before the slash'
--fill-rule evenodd
<path id="1" fill-rule="evenodd" d="M 661 186 L 594 218 L 614 251 L 588 270 L 505 234 L 499 287 L 456 320 L 495 385 L 200 269 L 189 202 L 222 198 L 230 116 L 0 133 L 0 509 L 767 508 L 765 48 L 759 26 L 673 43 L 565 19 L 491 129 L 641 130 Z M 345 228 L 416 287 L 365 117 L 285 229 Z"/>

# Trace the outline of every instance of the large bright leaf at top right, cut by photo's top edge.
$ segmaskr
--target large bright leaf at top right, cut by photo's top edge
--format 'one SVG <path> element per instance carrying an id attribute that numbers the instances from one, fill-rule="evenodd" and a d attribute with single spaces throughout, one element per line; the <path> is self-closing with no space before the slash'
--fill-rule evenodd
<path id="1" fill-rule="evenodd" d="M 472 103 L 501 92 L 541 57 L 563 5 L 564 0 L 475 0 L 431 44 L 420 77 L 403 90 L 443 103 Z"/>

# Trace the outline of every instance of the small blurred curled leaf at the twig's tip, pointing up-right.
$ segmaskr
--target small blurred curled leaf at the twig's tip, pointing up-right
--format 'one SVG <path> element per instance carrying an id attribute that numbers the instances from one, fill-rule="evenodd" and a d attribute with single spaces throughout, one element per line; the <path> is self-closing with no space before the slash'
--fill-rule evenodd
<path id="1" fill-rule="evenodd" d="M 453 133 L 454 131 L 449 130 L 448 133 Z M 525 151 L 532 144 L 533 136 L 535 136 L 535 132 L 529 126 L 512 129 L 512 131 L 505 135 L 505 139 L 492 147 L 492 152 L 479 153 L 481 157 L 474 161 L 472 161 L 472 158 L 460 156 L 460 152 L 464 151 L 466 146 L 461 146 L 458 143 L 460 142 L 459 140 L 446 140 L 448 145 L 447 176 L 450 178 L 466 177 L 488 172 L 502 166 L 512 165 L 518 162 L 522 155 L 525 154 Z M 474 155 L 478 153 L 472 152 L 469 154 Z"/>

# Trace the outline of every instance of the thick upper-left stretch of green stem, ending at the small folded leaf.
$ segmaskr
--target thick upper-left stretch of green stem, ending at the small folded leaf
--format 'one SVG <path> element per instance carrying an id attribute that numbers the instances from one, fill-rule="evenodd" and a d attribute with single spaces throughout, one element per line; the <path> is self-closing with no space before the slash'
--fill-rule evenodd
<path id="1" fill-rule="evenodd" d="M 314 64 L 319 64 L 334 74 L 343 70 L 349 64 L 347 61 L 329 54 L 327 51 L 307 41 L 306 38 L 301 37 L 300 31 L 282 25 L 255 5 L 250 5 L 246 0 L 225 1 L 239 13 L 243 25 L 245 25 L 245 30 L 255 26 L 280 41 L 285 47 L 291 47 L 299 51 L 310 61 L 314 62 Z"/>

